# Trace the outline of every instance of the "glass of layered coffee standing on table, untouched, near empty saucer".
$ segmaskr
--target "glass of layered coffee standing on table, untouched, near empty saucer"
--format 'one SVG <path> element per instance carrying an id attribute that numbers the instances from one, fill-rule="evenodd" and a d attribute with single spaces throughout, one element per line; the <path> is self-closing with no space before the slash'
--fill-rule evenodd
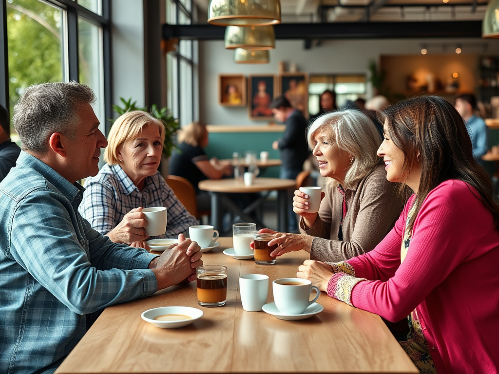
<path id="1" fill-rule="evenodd" d="M 221 307 L 227 301 L 227 267 L 205 265 L 196 269 L 198 303 L 202 307 Z"/>

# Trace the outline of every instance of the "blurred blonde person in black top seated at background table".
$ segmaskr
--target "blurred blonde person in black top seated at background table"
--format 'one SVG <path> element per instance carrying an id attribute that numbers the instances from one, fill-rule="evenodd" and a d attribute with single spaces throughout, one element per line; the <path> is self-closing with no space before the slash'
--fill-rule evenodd
<path id="1" fill-rule="evenodd" d="M 198 210 L 210 209 L 210 195 L 198 188 L 207 179 L 221 179 L 232 175 L 232 166 L 208 159 L 204 148 L 208 145 L 206 125 L 193 122 L 179 134 L 179 151 L 170 158 L 170 174 L 187 179 L 196 189 Z"/>

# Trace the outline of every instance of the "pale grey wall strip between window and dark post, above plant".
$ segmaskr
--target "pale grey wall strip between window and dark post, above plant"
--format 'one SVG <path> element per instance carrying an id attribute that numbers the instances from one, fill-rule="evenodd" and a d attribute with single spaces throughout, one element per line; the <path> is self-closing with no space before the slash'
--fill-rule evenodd
<path id="1" fill-rule="evenodd" d="M 123 97 L 143 106 L 144 82 L 144 8 L 142 0 L 119 0 L 112 9 L 113 104 Z"/>

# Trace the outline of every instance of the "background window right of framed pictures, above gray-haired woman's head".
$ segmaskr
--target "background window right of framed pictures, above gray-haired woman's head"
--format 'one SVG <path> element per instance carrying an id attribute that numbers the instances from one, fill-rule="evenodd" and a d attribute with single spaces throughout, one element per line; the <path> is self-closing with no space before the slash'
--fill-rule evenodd
<path id="1" fill-rule="evenodd" d="M 311 75 L 308 84 L 308 111 L 319 112 L 320 95 L 325 90 L 336 92 L 336 105 L 342 107 L 347 100 L 355 101 L 366 93 L 365 75 Z"/>

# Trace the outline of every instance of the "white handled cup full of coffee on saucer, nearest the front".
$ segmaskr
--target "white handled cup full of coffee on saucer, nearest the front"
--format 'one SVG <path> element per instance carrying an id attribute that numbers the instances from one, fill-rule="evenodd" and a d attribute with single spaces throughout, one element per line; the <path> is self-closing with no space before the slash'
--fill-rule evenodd
<path id="1" fill-rule="evenodd" d="M 315 290 L 312 301 L 310 294 Z M 320 291 L 312 286 L 308 279 L 281 278 L 272 282 L 272 293 L 274 295 L 275 307 L 283 314 L 302 314 L 305 309 L 315 303 L 319 298 Z"/>

